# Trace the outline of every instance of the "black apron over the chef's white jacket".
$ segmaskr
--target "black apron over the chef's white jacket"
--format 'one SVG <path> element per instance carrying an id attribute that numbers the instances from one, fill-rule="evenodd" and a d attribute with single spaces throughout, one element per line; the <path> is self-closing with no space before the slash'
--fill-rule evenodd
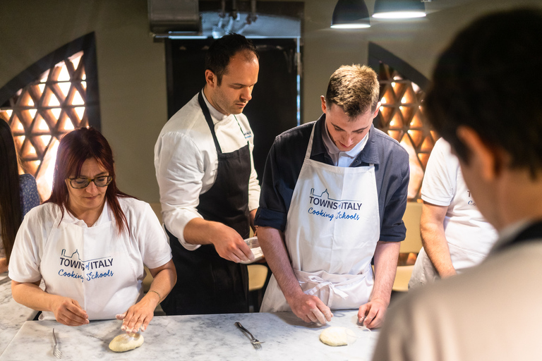
<path id="1" fill-rule="evenodd" d="M 198 102 L 215 141 L 218 168 L 215 184 L 200 195 L 197 209 L 203 219 L 225 224 L 234 228 L 243 239 L 248 238 L 248 182 L 251 177 L 248 142 L 235 152 L 222 153 L 202 92 L 198 95 Z M 201 245 L 197 250 L 186 250 L 167 229 L 166 232 L 177 271 L 177 283 L 162 301 L 162 310 L 166 314 L 248 312 L 246 264 L 220 257 L 214 245 Z"/>

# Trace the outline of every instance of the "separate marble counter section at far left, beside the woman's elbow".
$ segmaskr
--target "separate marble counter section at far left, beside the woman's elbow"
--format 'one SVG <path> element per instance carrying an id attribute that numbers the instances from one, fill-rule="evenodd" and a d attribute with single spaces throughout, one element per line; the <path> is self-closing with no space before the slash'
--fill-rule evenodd
<path id="1" fill-rule="evenodd" d="M 8 272 L 0 274 L 0 354 L 8 346 L 20 327 L 34 319 L 37 311 L 19 305 L 11 297 L 11 279 Z"/>

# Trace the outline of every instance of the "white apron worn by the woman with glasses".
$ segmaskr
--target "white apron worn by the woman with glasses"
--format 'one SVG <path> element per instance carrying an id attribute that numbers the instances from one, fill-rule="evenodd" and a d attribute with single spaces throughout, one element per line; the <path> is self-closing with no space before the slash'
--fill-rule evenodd
<path id="1" fill-rule="evenodd" d="M 59 216 L 40 265 L 46 292 L 77 300 L 89 319 L 114 319 L 142 293 L 126 248 L 128 234 L 117 233 L 114 218 L 107 212 L 106 204 L 100 216 L 106 218 L 90 228 L 83 221 L 59 224 Z M 66 217 L 71 215 L 64 210 Z M 43 312 L 41 319 L 54 319 L 54 314 Z"/>

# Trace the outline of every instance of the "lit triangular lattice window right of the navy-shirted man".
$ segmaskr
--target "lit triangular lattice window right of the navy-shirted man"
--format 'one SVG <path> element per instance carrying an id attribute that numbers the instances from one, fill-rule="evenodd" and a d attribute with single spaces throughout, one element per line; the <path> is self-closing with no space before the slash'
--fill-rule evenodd
<path id="1" fill-rule="evenodd" d="M 425 93 L 416 83 L 380 62 L 380 130 L 393 137 L 410 154 L 409 198 L 418 199 L 429 154 L 438 135 L 423 114 Z"/>

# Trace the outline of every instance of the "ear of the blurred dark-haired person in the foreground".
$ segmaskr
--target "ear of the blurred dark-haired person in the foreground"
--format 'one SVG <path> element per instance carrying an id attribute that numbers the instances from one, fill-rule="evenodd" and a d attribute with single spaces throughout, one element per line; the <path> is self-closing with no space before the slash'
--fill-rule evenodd
<path id="1" fill-rule="evenodd" d="M 469 166 L 478 167 L 485 181 L 493 181 L 507 163 L 505 152 L 483 142 L 476 131 L 467 126 L 457 128 L 457 137 L 469 149 Z M 472 163 L 472 164 L 471 164 Z"/>

